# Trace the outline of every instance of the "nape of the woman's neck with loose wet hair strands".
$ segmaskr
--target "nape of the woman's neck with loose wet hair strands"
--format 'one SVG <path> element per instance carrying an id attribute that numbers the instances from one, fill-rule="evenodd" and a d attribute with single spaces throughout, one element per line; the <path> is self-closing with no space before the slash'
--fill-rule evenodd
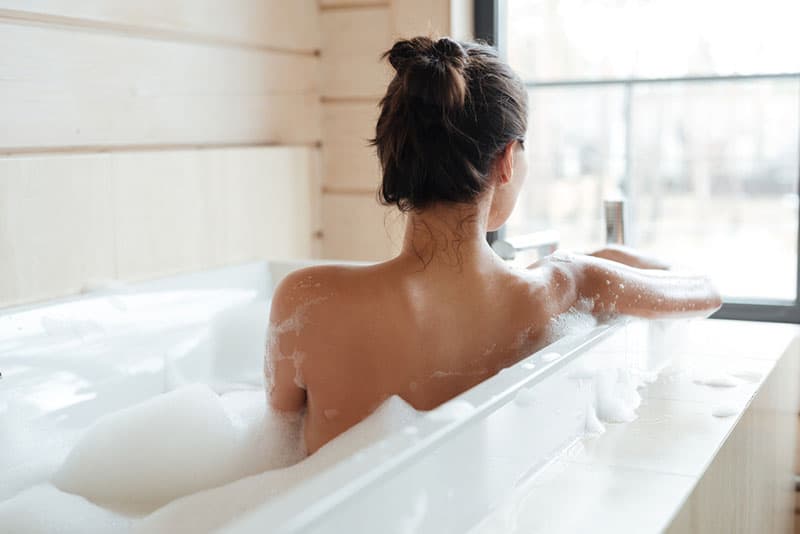
<path id="1" fill-rule="evenodd" d="M 486 242 L 484 203 L 436 204 L 410 212 L 400 259 L 458 271 L 481 269 L 497 258 Z"/>

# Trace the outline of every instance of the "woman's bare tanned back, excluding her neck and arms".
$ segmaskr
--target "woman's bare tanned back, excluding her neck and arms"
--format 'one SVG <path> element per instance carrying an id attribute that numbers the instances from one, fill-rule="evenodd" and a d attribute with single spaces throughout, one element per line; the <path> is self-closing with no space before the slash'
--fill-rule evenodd
<path id="1" fill-rule="evenodd" d="M 391 395 L 429 410 L 540 348 L 569 301 L 543 306 L 551 279 L 499 261 L 481 272 L 393 261 L 294 273 L 283 284 L 292 328 L 273 319 L 274 372 L 305 391 L 309 452 Z"/>

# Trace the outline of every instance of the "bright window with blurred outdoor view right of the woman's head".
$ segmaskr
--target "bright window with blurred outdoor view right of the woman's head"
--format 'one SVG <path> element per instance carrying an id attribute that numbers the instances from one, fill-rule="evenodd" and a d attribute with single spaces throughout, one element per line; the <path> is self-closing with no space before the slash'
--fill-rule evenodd
<path id="1" fill-rule="evenodd" d="M 796 297 L 800 1 L 507 0 L 526 80 L 528 182 L 507 235 L 630 244 L 708 272 L 728 300 Z"/>

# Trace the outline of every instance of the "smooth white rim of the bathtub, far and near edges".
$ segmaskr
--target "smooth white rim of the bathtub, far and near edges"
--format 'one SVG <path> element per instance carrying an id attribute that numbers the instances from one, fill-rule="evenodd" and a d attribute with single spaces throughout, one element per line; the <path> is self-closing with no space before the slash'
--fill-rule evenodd
<path id="1" fill-rule="evenodd" d="M 257 260 L 242 264 L 223 266 L 203 271 L 179 273 L 151 280 L 125 283 L 116 287 L 97 288 L 74 295 L 57 297 L 40 302 L 23 303 L 0 309 L 0 318 L 26 313 L 32 310 L 63 306 L 71 302 L 94 298 L 111 298 L 115 295 L 143 292 L 180 290 L 226 290 L 247 289 L 270 295 L 280 279 L 296 269 L 320 264 L 367 264 L 367 262 L 341 262 L 333 260 Z M 449 421 L 423 417 L 417 422 L 418 432 L 409 436 L 395 432 L 380 442 L 358 451 L 329 468 L 299 483 L 285 494 L 264 503 L 244 515 L 244 520 L 253 513 L 268 514 L 280 519 L 276 532 L 292 532 L 310 527 L 324 520 L 337 506 L 356 498 L 361 492 L 386 477 L 391 477 L 405 466 L 422 458 L 446 440 L 452 439 L 473 424 L 488 417 L 508 402 L 517 392 L 545 380 L 591 346 L 606 339 L 627 319 L 593 328 L 580 336 L 570 336 L 547 345 L 516 364 L 503 369 L 497 375 L 456 396 L 439 408 L 444 410 L 449 403 L 466 401 L 474 409 L 465 417 Z M 197 340 L 195 340 L 197 341 Z M 545 354 L 559 352 L 561 357 L 550 362 L 542 358 Z M 535 368 L 529 369 L 531 363 Z M 440 411 L 442 411 L 440 410 Z M 330 488 L 337 488 L 330 492 Z M 313 505 L 308 505 L 308 495 L 314 494 Z M 303 511 L 304 513 L 298 513 Z M 240 520 L 230 523 L 232 527 Z"/>

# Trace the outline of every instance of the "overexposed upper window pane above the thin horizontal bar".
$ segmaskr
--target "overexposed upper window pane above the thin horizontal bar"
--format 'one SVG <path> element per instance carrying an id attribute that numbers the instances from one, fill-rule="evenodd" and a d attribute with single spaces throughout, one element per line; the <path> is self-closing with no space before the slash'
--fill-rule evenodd
<path id="1" fill-rule="evenodd" d="M 800 71 L 797 0 L 507 0 L 528 80 Z"/>

